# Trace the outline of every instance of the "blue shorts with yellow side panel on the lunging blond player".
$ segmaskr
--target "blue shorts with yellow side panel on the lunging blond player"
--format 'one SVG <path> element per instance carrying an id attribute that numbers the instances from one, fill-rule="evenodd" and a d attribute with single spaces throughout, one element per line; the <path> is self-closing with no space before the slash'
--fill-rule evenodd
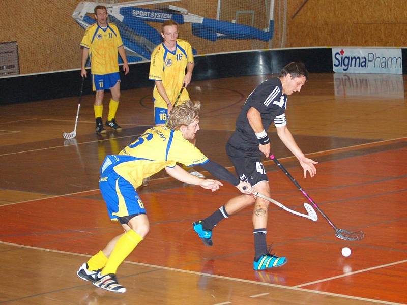
<path id="1" fill-rule="evenodd" d="M 107 166 L 106 166 L 107 165 Z M 99 188 L 106 202 L 111 220 L 133 214 L 146 214 L 146 209 L 134 187 L 113 170 L 114 165 L 106 157 L 99 178 Z"/>

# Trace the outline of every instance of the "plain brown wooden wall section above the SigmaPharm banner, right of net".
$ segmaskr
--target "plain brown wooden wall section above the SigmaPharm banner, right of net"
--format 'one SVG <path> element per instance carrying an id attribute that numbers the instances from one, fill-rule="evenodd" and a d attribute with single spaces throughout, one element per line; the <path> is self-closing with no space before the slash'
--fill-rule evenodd
<path id="1" fill-rule="evenodd" d="M 280 0 L 282 1 L 282 0 Z M 403 0 L 288 1 L 286 47 L 405 45 Z"/>

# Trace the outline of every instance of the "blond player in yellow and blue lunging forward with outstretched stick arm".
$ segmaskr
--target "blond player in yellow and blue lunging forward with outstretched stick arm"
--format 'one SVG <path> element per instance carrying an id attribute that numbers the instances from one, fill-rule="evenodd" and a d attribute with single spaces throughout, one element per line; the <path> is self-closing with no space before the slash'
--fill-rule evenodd
<path id="1" fill-rule="evenodd" d="M 78 277 L 108 291 L 126 292 L 115 274 L 149 232 L 146 209 L 136 191 L 144 177 L 165 168 L 170 176 L 182 182 L 216 191 L 221 182 L 198 178 L 176 163 L 199 164 L 242 193 L 251 194 L 248 182 L 240 181 L 227 169 L 209 160 L 190 142 L 199 130 L 199 110 L 199 102 L 187 101 L 172 110 L 167 127 L 150 128 L 119 155 L 106 156 L 100 168 L 99 187 L 110 219 L 119 221 L 124 234 L 114 237 L 103 250 L 83 263 L 77 271 Z"/>

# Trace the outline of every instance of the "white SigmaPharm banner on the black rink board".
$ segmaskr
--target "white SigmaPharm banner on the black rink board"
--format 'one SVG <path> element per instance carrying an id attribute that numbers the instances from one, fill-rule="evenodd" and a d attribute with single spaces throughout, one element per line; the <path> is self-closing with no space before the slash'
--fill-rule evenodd
<path id="1" fill-rule="evenodd" d="M 401 49 L 332 48 L 333 71 L 402 74 Z"/>

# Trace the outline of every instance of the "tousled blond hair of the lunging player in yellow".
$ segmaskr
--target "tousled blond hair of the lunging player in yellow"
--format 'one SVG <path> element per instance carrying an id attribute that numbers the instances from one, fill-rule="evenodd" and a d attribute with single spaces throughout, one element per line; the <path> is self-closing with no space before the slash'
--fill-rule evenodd
<path id="1" fill-rule="evenodd" d="M 188 126 L 199 119 L 200 102 L 188 100 L 174 107 L 169 115 L 167 127 L 179 130 L 181 126 Z"/>

